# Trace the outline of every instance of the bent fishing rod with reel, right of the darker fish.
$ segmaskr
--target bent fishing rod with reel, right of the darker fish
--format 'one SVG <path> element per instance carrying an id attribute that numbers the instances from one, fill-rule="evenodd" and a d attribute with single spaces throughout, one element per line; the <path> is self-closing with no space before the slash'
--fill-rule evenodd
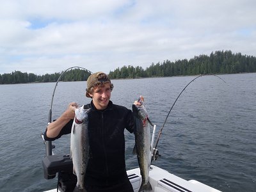
<path id="1" fill-rule="evenodd" d="M 173 108 L 173 106 L 175 105 L 175 103 L 177 102 L 177 100 L 179 99 L 179 97 L 180 97 L 180 95 L 182 94 L 182 92 L 184 92 L 184 90 L 186 90 L 186 88 L 189 86 L 189 84 L 191 84 L 191 83 L 192 83 L 193 81 L 195 81 L 197 78 L 202 77 L 202 76 L 204 76 L 204 75 L 201 75 L 201 74 L 200 74 L 199 76 L 195 77 L 194 79 L 192 79 L 192 80 L 183 88 L 183 90 L 179 93 L 179 95 L 178 95 L 177 99 L 175 100 L 175 102 L 173 102 L 172 108 Z M 212 74 L 212 76 L 216 76 L 216 75 L 215 75 L 215 74 Z M 221 79 L 221 77 L 219 77 L 219 76 L 216 76 L 216 77 L 218 77 L 218 78 Z M 223 79 L 221 79 L 221 80 L 224 81 Z M 226 81 L 224 81 L 224 83 L 226 83 Z M 163 126 L 161 127 L 161 129 L 160 129 L 160 131 L 159 131 L 159 134 L 158 134 L 158 136 L 157 136 L 156 145 L 155 145 L 155 147 L 153 148 L 153 152 L 152 152 L 152 159 L 151 159 L 151 162 L 152 162 L 153 160 L 156 160 L 157 157 L 160 156 L 158 150 L 156 149 L 156 147 L 157 147 L 157 145 L 158 145 L 158 141 L 159 141 L 159 138 L 160 138 L 160 136 L 161 136 L 161 134 L 162 134 L 162 131 L 163 131 L 163 129 L 164 129 L 164 125 L 165 125 L 165 123 L 166 123 L 166 121 L 167 121 L 167 118 L 168 118 L 168 116 L 170 115 L 170 113 L 171 113 L 171 111 L 172 111 L 172 108 L 171 108 L 170 111 L 168 112 L 168 115 L 166 116 L 166 118 L 165 118 L 165 120 L 164 120 L 164 124 L 163 124 Z"/>

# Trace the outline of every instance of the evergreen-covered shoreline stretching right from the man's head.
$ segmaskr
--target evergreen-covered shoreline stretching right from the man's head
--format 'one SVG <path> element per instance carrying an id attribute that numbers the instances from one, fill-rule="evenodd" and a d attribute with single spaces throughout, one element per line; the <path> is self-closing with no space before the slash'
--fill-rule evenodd
<path id="1" fill-rule="evenodd" d="M 231 51 L 216 51 L 210 56 L 200 55 L 190 60 L 164 61 L 150 65 L 146 70 L 131 65 L 109 72 L 111 79 L 138 77 L 195 76 L 199 74 L 237 74 L 256 72 L 256 58 L 233 54 Z"/>

